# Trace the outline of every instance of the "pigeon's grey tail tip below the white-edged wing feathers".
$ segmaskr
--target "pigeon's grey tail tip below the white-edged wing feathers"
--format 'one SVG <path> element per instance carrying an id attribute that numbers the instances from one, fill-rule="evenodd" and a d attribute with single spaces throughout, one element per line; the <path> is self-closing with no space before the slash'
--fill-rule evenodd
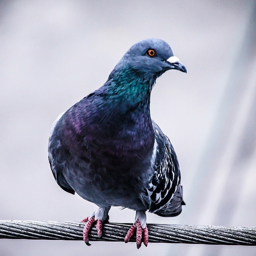
<path id="1" fill-rule="evenodd" d="M 182 211 L 183 205 L 186 205 L 186 204 L 182 198 L 182 186 L 179 185 L 168 207 L 166 207 L 166 209 L 160 209 L 154 213 L 161 217 L 175 217 L 180 214 L 180 212 Z"/>

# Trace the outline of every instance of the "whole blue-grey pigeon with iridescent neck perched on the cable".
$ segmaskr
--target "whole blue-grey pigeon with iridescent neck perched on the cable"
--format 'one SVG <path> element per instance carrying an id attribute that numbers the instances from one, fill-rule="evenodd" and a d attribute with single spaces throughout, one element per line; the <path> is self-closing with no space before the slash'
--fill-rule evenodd
<path id="1" fill-rule="evenodd" d="M 146 211 L 177 216 L 184 201 L 174 148 L 151 119 L 151 90 L 167 70 L 186 67 L 160 39 L 134 44 L 105 84 L 52 125 L 49 163 L 58 185 L 98 206 L 84 218 L 84 242 L 94 224 L 99 237 L 112 206 L 136 211 L 125 236 L 136 235 L 137 248 L 148 245 Z M 134 234 L 135 232 L 135 234 Z"/>

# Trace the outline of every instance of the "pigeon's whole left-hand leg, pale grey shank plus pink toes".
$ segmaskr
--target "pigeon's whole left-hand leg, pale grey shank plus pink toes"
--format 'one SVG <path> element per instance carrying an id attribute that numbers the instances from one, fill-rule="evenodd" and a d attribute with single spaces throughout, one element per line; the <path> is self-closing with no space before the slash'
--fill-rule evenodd
<path id="1" fill-rule="evenodd" d="M 83 236 L 84 242 L 87 245 L 89 243 L 89 232 L 90 229 L 93 227 L 93 224 L 96 222 L 96 229 L 99 237 L 102 237 L 102 224 L 108 221 L 108 212 L 110 207 L 99 207 L 90 217 L 84 218 L 82 222 L 87 222 L 84 226 Z"/>

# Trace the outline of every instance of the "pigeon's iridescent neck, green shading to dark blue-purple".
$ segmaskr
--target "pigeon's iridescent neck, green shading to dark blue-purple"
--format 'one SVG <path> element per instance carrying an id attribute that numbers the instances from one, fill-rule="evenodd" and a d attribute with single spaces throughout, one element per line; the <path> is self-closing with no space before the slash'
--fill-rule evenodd
<path id="1" fill-rule="evenodd" d="M 111 73 L 112 74 L 112 73 Z M 134 70 L 119 70 L 97 91 L 101 99 L 98 113 L 116 128 L 153 133 L 150 117 L 150 95 L 153 79 L 145 79 Z"/>

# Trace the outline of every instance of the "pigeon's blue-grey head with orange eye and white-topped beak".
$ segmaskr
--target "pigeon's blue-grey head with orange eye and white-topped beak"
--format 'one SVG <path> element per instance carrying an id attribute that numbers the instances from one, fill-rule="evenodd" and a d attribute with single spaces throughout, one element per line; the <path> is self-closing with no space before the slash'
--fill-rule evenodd
<path id="1" fill-rule="evenodd" d="M 134 70 L 149 78 L 161 76 L 171 69 L 186 73 L 186 67 L 173 55 L 172 49 L 161 39 L 146 39 L 134 44 L 116 66 L 121 69 Z"/>

